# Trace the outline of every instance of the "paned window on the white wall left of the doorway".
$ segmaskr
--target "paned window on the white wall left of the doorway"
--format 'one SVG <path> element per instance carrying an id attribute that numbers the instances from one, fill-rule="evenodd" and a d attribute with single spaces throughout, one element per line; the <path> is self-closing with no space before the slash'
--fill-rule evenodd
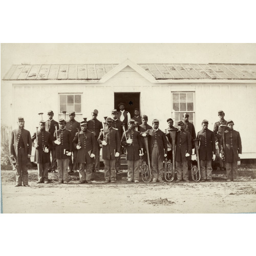
<path id="1" fill-rule="evenodd" d="M 59 112 L 81 113 L 81 94 L 59 94 Z"/>

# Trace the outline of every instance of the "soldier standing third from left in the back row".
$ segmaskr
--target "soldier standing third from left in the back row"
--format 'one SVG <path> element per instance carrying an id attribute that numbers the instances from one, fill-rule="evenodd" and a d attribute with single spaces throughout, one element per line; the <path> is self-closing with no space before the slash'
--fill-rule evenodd
<path id="1" fill-rule="evenodd" d="M 87 122 L 88 131 L 92 132 L 95 136 L 95 140 L 97 141 L 99 137 L 100 130 L 103 129 L 102 122 L 97 119 L 98 111 L 94 110 L 92 112 L 92 119 Z M 92 159 L 92 172 L 99 173 L 99 154 L 100 154 L 100 146 L 96 143 L 96 154 L 95 158 Z"/>

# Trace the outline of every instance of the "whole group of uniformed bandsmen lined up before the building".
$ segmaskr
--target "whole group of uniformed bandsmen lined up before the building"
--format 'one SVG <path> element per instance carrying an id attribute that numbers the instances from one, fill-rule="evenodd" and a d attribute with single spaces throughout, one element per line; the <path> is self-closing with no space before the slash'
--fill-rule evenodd
<path id="1" fill-rule="evenodd" d="M 224 147 L 225 162 L 221 159 L 220 168 L 226 167 L 227 181 L 236 180 L 238 162 L 242 154 L 239 132 L 233 130 L 233 121 L 224 120 L 224 112 L 219 111 L 220 121 L 214 125 L 214 131 L 208 130 L 208 121 L 202 121 L 202 130 L 196 135 L 193 123 L 188 121 L 189 114 L 184 113 L 183 121 L 174 127 L 172 118 L 167 119 L 165 132 L 159 129 L 159 120 L 154 119 L 152 126 L 147 124 L 146 115 L 135 115 L 131 118 L 125 111 L 125 104 L 120 103 L 119 111 L 113 110 L 112 117 L 105 120 L 104 126 L 97 119 L 98 111 L 94 110 L 92 119 L 77 122 L 75 112 L 69 113 L 70 120 L 53 120 L 53 111 L 48 111 L 48 120 L 39 122 L 39 131 L 32 138 L 24 129 L 24 118 L 19 117 L 18 129 L 12 131 L 10 138 L 10 155 L 15 158 L 16 186 L 28 186 L 27 161 L 31 157 L 32 144 L 35 147 L 35 162 L 38 167 L 37 183 L 48 183 L 48 172 L 58 172 L 58 183 L 68 183 L 68 173 L 79 169 L 80 183 L 92 183 L 92 172 L 99 172 L 100 147 L 104 161 L 104 183 L 116 182 L 116 173 L 120 172 L 120 156 L 122 148 L 126 152 L 128 167 L 127 182 L 139 182 L 140 161 L 150 155 L 152 182 L 164 182 L 164 158 L 172 159 L 172 137 L 169 130 L 176 130 L 175 160 L 177 168 L 176 182 L 189 182 L 193 140 L 198 139 L 201 181 L 212 180 L 211 161 L 216 158 L 216 144 Z M 225 124 L 225 142 L 220 125 Z M 80 131 L 79 131 L 80 129 Z M 144 140 L 148 138 L 148 152 Z M 52 160 L 50 161 L 50 154 Z M 73 155 L 73 161 L 72 161 Z M 57 163 L 57 164 L 56 164 Z M 69 168 L 69 170 L 68 170 Z"/>

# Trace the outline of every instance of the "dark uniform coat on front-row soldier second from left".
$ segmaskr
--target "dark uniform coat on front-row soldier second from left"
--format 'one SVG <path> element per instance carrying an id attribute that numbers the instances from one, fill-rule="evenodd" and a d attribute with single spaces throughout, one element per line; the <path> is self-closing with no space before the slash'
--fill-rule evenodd
<path id="1" fill-rule="evenodd" d="M 36 133 L 32 136 L 32 142 L 36 139 Z M 38 147 L 35 148 L 35 162 L 37 163 L 50 163 L 50 149 L 52 147 L 52 136 L 47 131 L 37 132 L 37 144 Z M 49 149 L 48 153 L 44 152 L 44 146 Z"/>

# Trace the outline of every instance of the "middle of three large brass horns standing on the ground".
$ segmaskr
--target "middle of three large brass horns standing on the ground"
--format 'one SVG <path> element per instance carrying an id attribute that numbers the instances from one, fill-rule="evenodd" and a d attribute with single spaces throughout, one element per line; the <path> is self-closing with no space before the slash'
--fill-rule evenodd
<path id="1" fill-rule="evenodd" d="M 175 140 L 176 140 L 176 129 L 168 129 L 170 137 L 172 138 L 172 151 L 173 151 L 173 162 L 167 160 L 164 161 L 164 178 L 166 181 L 173 181 L 175 176 Z"/>

